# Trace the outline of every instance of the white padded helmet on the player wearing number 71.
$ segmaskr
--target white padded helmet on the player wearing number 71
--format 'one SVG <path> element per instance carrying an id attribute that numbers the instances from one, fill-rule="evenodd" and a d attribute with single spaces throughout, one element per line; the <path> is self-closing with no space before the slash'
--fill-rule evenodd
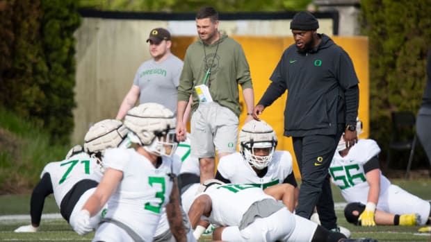
<path id="1" fill-rule="evenodd" d="M 119 120 L 104 119 L 91 126 L 86 137 L 84 137 L 84 151 L 92 155 L 95 153 L 104 154 L 107 148 L 125 147 L 130 141 L 127 138 L 126 126 Z"/>

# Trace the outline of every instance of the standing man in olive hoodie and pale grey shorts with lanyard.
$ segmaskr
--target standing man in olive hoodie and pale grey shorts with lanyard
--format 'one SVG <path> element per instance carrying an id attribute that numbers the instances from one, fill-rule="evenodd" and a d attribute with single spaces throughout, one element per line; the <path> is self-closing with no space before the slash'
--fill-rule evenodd
<path id="1" fill-rule="evenodd" d="M 252 119 L 254 94 L 250 68 L 241 45 L 218 31 L 218 12 L 204 7 L 197 12 L 199 40 L 190 44 L 178 87 L 177 139 L 184 140 L 182 122 L 190 94 L 191 153 L 200 159 L 201 182 L 214 178 L 215 150 L 218 158 L 236 152 L 241 85 L 247 108 L 245 122 Z"/>

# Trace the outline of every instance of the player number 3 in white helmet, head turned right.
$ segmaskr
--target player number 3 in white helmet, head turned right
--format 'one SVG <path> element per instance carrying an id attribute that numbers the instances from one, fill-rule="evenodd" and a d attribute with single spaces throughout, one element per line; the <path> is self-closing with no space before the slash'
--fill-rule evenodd
<path id="1" fill-rule="evenodd" d="M 90 218 L 107 202 L 108 212 L 93 241 L 152 241 L 163 207 L 174 238 L 187 241 L 172 173 L 172 159 L 179 159 L 173 155 L 178 144 L 175 123 L 174 113 L 158 103 L 127 112 L 124 126 L 132 148 L 106 150 L 104 176 L 76 217 L 79 234 L 92 231 Z"/>

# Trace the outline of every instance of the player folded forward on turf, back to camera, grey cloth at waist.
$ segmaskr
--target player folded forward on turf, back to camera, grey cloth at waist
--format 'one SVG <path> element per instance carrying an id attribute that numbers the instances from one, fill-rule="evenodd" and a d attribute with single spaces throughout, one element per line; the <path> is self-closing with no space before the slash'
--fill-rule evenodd
<path id="1" fill-rule="evenodd" d="M 223 184 L 207 180 L 193 201 L 188 216 L 193 228 L 202 216 L 218 225 L 213 241 L 375 241 L 346 239 L 339 232 L 288 211 L 287 207 L 252 184 Z"/>

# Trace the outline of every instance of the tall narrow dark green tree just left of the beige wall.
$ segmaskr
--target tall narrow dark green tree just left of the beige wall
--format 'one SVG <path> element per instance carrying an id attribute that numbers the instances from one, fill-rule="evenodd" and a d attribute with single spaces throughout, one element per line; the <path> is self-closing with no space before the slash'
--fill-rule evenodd
<path id="1" fill-rule="evenodd" d="M 81 23 L 81 16 L 74 0 L 42 0 L 40 33 L 44 61 L 49 69 L 42 89 L 47 98 L 42 112 L 44 127 L 52 139 L 68 144 L 74 127 L 72 109 L 75 86 L 74 32 Z"/>

